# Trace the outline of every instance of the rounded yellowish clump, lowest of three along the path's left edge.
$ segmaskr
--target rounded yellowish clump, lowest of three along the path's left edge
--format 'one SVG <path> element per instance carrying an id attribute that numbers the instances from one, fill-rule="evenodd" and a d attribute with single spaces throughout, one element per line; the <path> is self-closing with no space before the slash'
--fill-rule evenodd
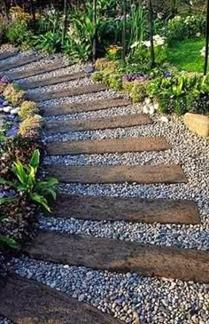
<path id="1" fill-rule="evenodd" d="M 37 138 L 43 126 L 43 118 L 40 115 L 27 117 L 19 126 L 19 135 L 27 138 Z"/>

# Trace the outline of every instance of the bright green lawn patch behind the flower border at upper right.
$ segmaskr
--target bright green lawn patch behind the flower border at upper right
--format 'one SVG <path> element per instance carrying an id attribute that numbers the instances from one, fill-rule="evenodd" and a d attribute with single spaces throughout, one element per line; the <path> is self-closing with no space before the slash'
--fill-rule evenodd
<path id="1" fill-rule="evenodd" d="M 203 72 L 204 57 L 201 56 L 199 51 L 204 46 L 205 40 L 203 38 L 176 42 L 174 46 L 167 49 L 168 62 L 181 71 Z"/>

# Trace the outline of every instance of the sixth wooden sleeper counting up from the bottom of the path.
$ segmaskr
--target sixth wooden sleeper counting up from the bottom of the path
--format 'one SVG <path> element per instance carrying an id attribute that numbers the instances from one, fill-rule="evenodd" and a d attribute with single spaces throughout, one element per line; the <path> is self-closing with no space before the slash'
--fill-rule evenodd
<path id="1" fill-rule="evenodd" d="M 46 134 L 66 133 L 69 131 L 111 130 L 151 124 L 151 118 L 145 114 L 118 115 L 112 117 L 71 119 L 68 121 L 48 122 Z"/>

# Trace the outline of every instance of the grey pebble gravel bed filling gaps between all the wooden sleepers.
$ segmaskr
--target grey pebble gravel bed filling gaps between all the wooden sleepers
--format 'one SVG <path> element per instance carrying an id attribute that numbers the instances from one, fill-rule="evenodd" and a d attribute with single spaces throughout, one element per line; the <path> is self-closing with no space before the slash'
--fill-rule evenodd
<path id="1" fill-rule="evenodd" d="M 31 52 L 19 53 L 19 58 Z M 16 57 L 15 57 L 16 58 Z M 60 55 L 54 56 L 60 61 Z M 44 65 L 46 60 L 34 62 L 10 72 Z M 11 62 L 11 59 L 6 59 Z M 54 60 L 53 60 L 54 61 Z M 65 61 L 65 59 L 64 59 Z M 36 81 L 41 78 L 58 76 L 80 71 L 84 66 L 66 67 L 44 75 L 35 75 L 27 80 Z M 30 91 L 61 90 L 67 87 L 91 84 L 89 78 L 70 83 L 61 83 Z M 85 94 L 74 98 L 52 99 L 41 101 L 40 107 L 58 106 L 62 103 L 74 103 L 84 100 L 117 98 L 119 92 L 106 90 Z M 69 119 L 99 118 L 112 115 L 132 115 L 142 112 L 140 105 L 110 108 L 104 111 L 81 113 L 74 115 L 50 116 L 45 122 Z M 161 122 L 160 115 L 152 115 L 154 123 L 140 127 L 115 130 L 81 131 L 66 134 L 43 136 L 45 142 L 85 140 L 103 138 L 128 138 L 140 136 L 161 136 L 166 138 L 172 148 L 166 152 L 126 153 L 126 154 L 81 154 L 79 156 L 45 156 L 44 164 L 62 165 L 136 165 L 157 163 L 180 163 L 189 179 L 188 184 L 178 185 L 81 185 L 71 184 L 59 186 L 60 192 L 70 194 L 89 194 L 94 196 L 120 196 L 141 198 L 189 199 L 198 203 L 201 225 L 160 225 L 125 222 L 97 222 L 39 216 L 38 228 L 58 231 L 60 233 L 76 233 L 96 237 L 112 238 L 124 241 L 152 243 L 162 246 L 174 246 L 185 249 L 209 250 L 209 142 L 198 138 L 182 123 L 182 118 L 169 116 L 169 122 Z M 135 273 L 109 273 L 95 271 L 81 266 L 54 265 L 35 261 L 28 257 L 12 259 L 8 268 L 26 278 L 58 288 L 69 296 L 92 304 L 99 310 L 112 314 L 127 323 L 135 324 L 137 314 L 142 324 L 207 324 L 209 322 L 209 285 L 184 281 L 154 279 L 139 276 Z M 1 319 L 0 324 L 11 324 Z"/>

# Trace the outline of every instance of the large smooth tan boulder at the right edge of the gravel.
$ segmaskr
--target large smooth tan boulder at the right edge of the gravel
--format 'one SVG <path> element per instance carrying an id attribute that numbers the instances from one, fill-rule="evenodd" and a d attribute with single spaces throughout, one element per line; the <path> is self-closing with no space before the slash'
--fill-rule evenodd
<path id="1" fill-rule="evenodd" d="M 184 123 L 198 135 L 209 137 L 209 116 L 187 113 L 184 115 Z"/>

